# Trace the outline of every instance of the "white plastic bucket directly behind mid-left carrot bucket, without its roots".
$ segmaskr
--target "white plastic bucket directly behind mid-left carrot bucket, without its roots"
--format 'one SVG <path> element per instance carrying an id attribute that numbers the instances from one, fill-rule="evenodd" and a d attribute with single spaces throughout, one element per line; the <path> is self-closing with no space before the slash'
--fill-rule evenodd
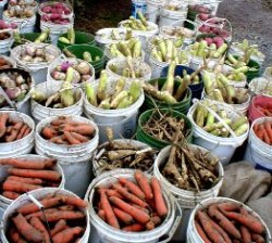
<path id="1" fill-rule="evenodd" d="M 42 82 L 39 84 L 35 87 L 35 90 L 37 91 L 41 91 L 46 94 L 46 97 L 50 97 L 54 93 L 57 93 L 60 89 L 61 89 L 62 82 Z M 69 107 L 64 107 L 64 108 L 51 108 L 51 107 L 46 107 L 41 104 L 39 104 L 38 102 L 36 102 L 35 100 L 32 99 L 32 116 L 36 122 L 42 120 L 47 117 L 50 116 L 62 116 L 62 115 L 78 115 L 81 116 L 83 113 L 83 99 L 84 99 L 84 94 L 83 94 L 83 90 L 81 88 L 74 88 L 73 92 L 78 92 L 79 94 L 79 100 L 69 106 Z"/>

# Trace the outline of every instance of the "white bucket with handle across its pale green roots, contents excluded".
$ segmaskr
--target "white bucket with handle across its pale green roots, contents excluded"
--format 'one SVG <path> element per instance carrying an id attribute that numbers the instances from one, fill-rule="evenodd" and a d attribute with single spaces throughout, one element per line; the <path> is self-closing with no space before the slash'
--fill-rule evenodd
<path id="1" fill-rule="evenodd" d="M 242 113 L 233 108 L 230 104 L 219 103 L 211 101 L 210 105 L 217 105 L 220 108 L 223 108 L 227 117 L 230 117 L 232 120 L 236 120 L 238 117 L 243 116 Z M 239 137 L 230 137 L 230 138 L 221 138 L 213 136 L 207 131 L 205 131 L 202 128 L 198 127 L 197 124 L 194 120 L 194 113 L 196 111 L 197 103 L 195 103 L 188 114 L 187 117 L 190 119 L 193 124 L 193 143 L 200 145 L 209 151 L 211 151 L 215 156 L 219 157 L 223 166 L 227 165 L 235 152 L 235 150 L 240 146 L 245 140 L 248 137 L 248 131 L 246 131 L 244 135 Z M 249 126 L 248 126 L 249 127 Z"/>

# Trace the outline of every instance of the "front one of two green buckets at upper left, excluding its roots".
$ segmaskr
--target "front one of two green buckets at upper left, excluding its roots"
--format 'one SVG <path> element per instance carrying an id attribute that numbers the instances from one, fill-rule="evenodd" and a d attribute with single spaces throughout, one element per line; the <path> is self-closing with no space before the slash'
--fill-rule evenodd
<path id="1" fill-rule="evenodd" d="M 69 50 L 71 53 L 73 53 L 77 59 L 82 59 L 82 60 L 83 60 L 83 53 L 85 51 L 88 51 L 91 54 L 92 59 L 95 59 L 96 56 L 99 56 L 100 60 L 89 62 L 95 67 L 96 74 L 99 73 L 104 66 L 104 53 L 100 48 L 92 47 L 92 46 L 85 43 L 85 44 L 69 46 L 65 49 Z"/>

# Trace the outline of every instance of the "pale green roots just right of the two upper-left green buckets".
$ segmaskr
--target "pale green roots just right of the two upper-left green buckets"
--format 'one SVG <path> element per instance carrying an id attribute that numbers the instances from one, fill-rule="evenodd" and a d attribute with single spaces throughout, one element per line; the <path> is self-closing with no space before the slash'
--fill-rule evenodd
<path id="1" fill-rule="evenodd" d="M 132 56 L 134 59 L 140 57 L 143 55 L 141 52 L 141 42 L 136 38 L 129 39 L 126 41 L 120 41 L 118 43 L 112 43 L 109 46 L 109 53 L 111 56 Z"/>

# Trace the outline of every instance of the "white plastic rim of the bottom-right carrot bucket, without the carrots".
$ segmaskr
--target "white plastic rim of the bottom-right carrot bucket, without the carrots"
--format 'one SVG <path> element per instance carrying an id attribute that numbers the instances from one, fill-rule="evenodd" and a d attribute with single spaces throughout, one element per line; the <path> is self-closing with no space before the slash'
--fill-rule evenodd
<path id="1" fill-rule="evenodd" d="M 187 242 L 188 243 L 205 243 L 205 241 L 199 236 L 197 230 L 196 230 L 196 226 L 195 226 L 195 217 L 196 217 L 196 213 L 202 208 L 206 208 L 214 203 L 235 203 L 235 204 L 239 204 L 240 206 L 243 206 L 247 212 L 249 212 L 250 215 L 255 216 L 256 218 L 258 218 L 261 223 L 265 227 L 265 243 L 271 243 L 272 239 L 271 239 L 271 233 L 269 231 L 268 226 L 265 225 L 265 222 L 261 219 L 261 217 L 255 213 L 250 207 L 246 206 L 245 204 L 232 200 L 232 199 L 227 199 L 227 197 L 215 197 L 215 199 L 208 199 L 202 201 L 201 203 L 199 203 L 196 208 L 193 210 L 190 218 L 189 218 L 189 225 L 187 228 Z"/>

